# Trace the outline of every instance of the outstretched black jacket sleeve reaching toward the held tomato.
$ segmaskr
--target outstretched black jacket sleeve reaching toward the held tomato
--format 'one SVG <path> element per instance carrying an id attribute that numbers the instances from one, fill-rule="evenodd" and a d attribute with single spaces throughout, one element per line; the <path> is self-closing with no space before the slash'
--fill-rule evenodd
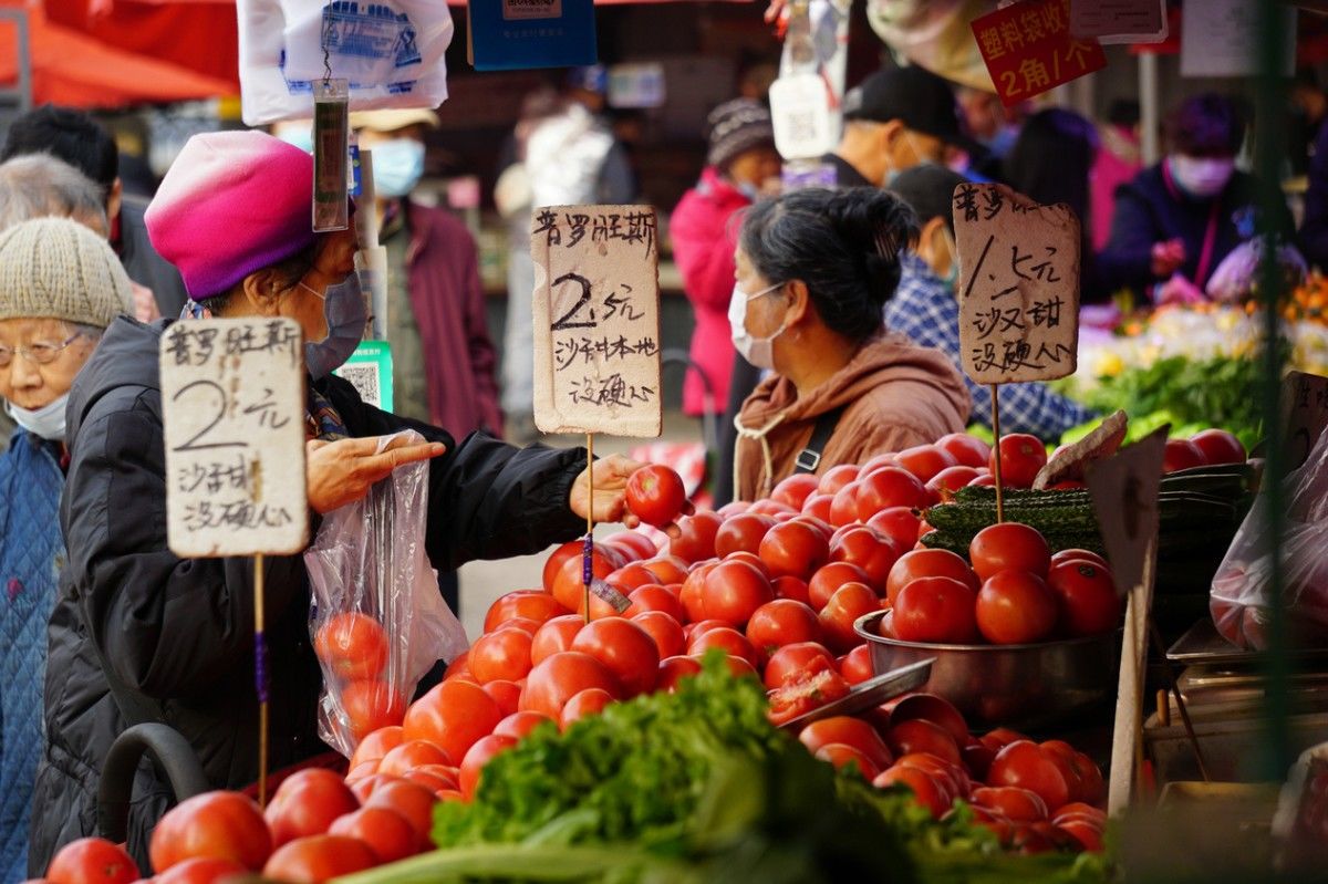
<path id="1" fill-rule="evenodd" d="M 412 429 L 448 446 L 429 465 L 425 548 L 438 571 L 471 559 L 530 555 L 584 531 L 584 520 L 567 506 L 572 482 L 586 469 L 584 449 L 518 449 L 483 433 L 458 445 L 438 427 L 367 405 L 341 378 L 328 385 L 355 435 Z"/>

